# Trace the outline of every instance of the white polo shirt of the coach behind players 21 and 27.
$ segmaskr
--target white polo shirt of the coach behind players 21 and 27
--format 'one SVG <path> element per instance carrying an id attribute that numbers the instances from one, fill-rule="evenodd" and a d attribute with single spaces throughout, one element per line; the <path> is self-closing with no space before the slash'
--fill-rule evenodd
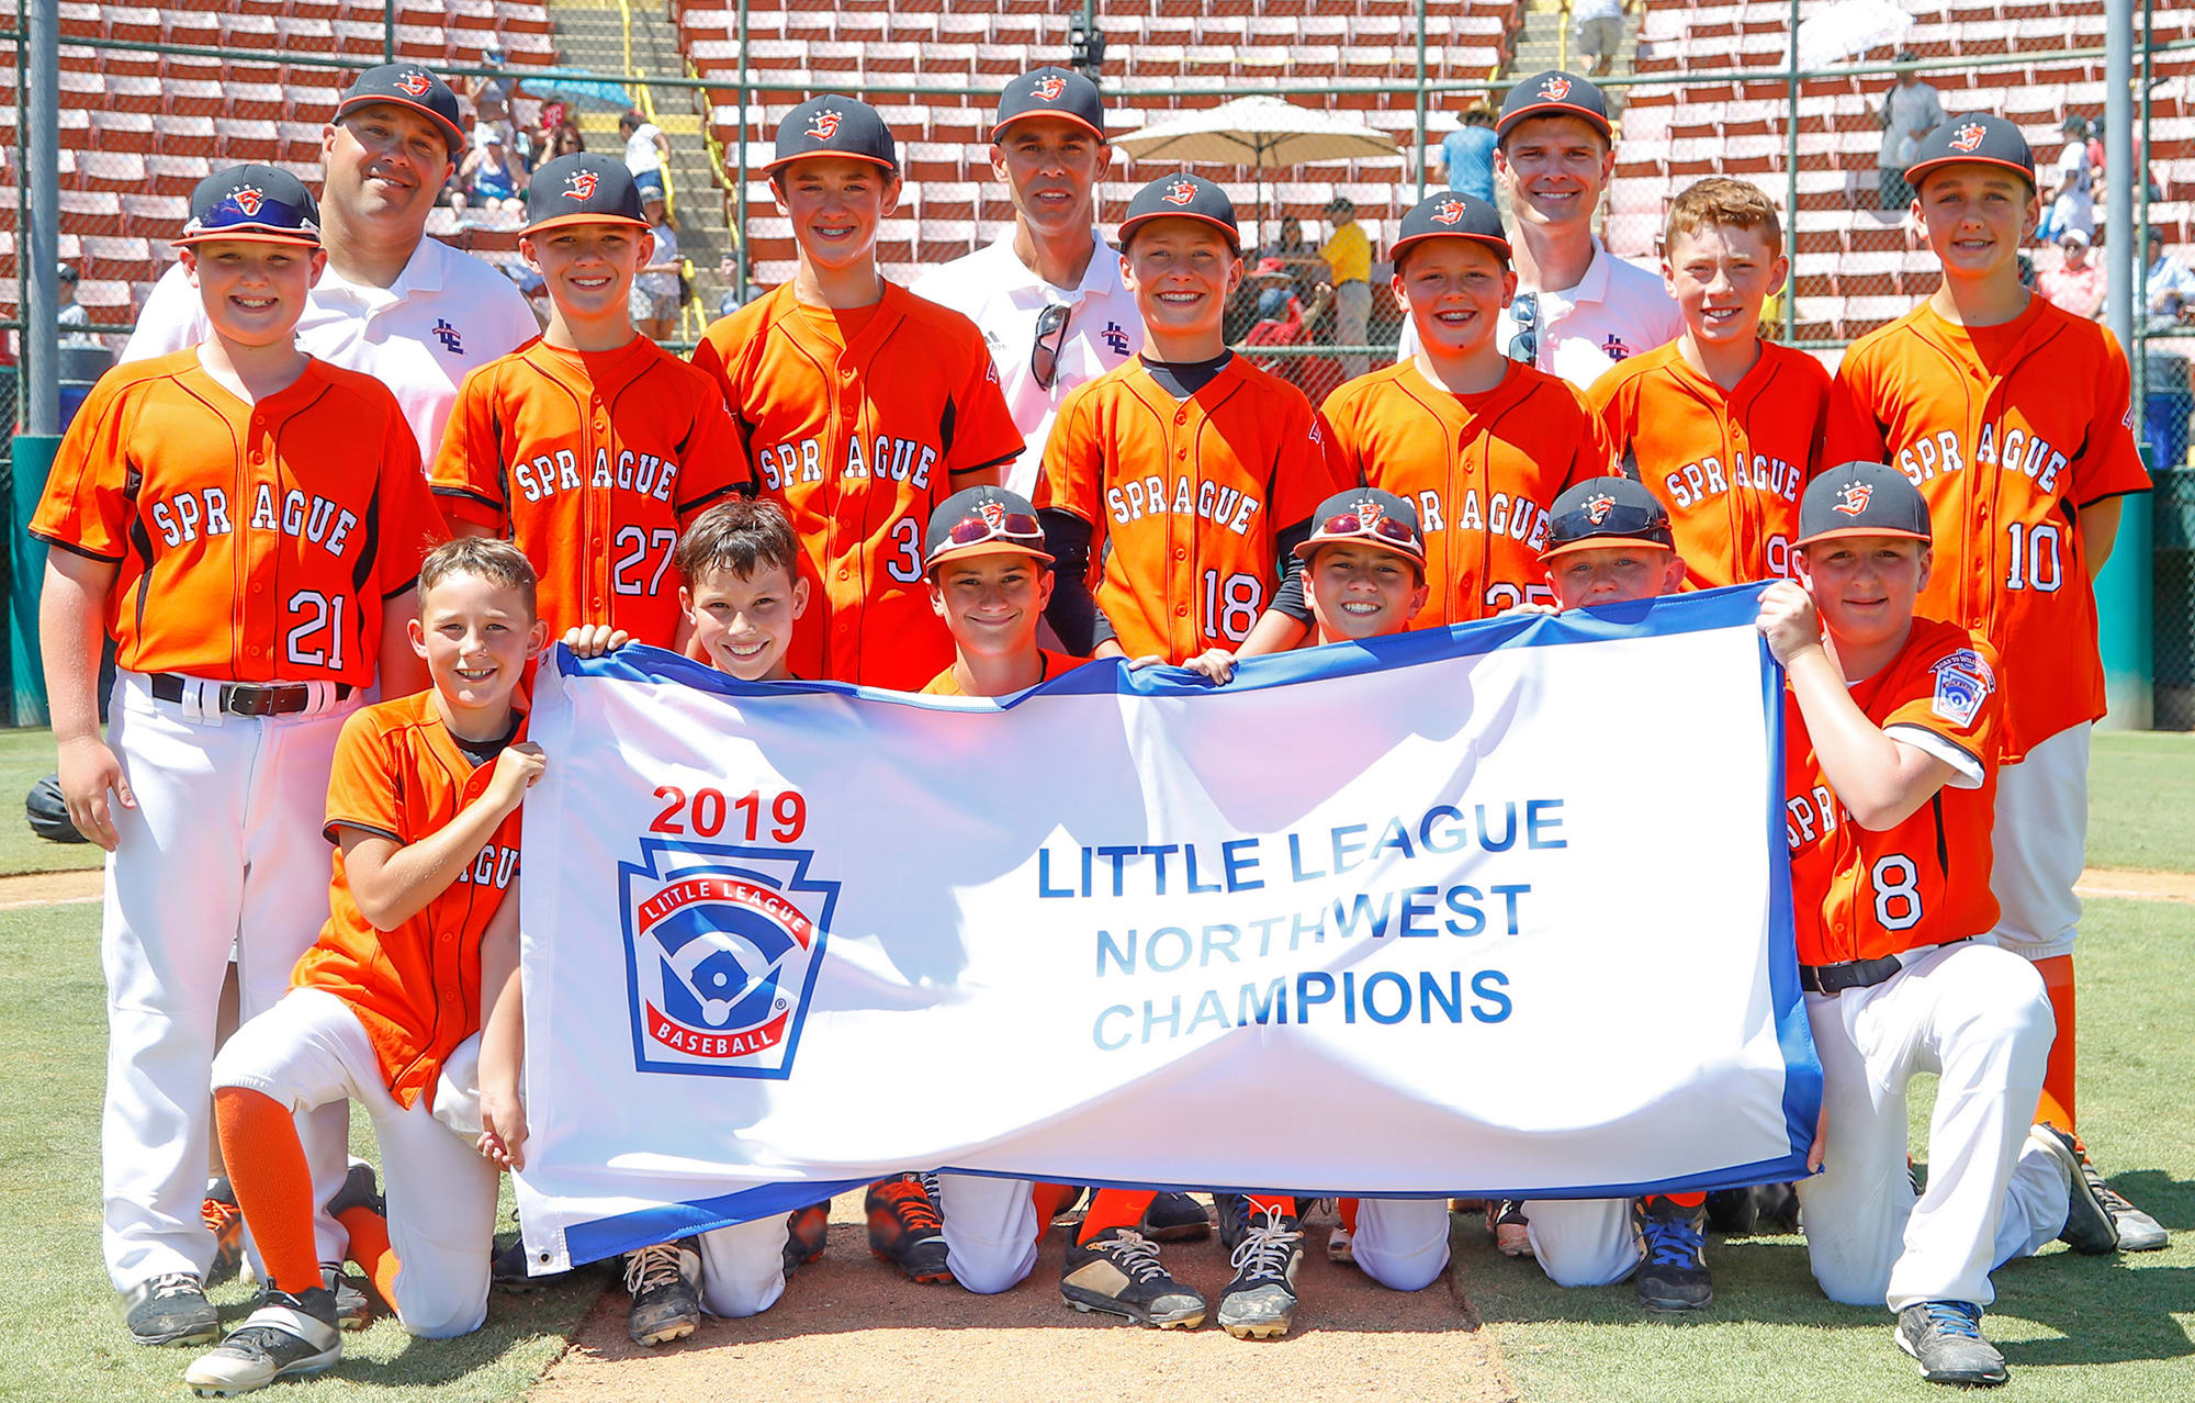
<path id="1" fill-rule="evenodd" d="M 123 360 L 167 356 L 211 334 L 198 288 L 176 263 L 154 283 Z M 496 356 L 540 336 L 527 299 L 494 263 L 441 239 L 419 239 L 395 285 L 349 283 L 334 268 L 305 299 L 296 343 L 307 356 L 389 386 L 432 465 L 457 386 Z"/>

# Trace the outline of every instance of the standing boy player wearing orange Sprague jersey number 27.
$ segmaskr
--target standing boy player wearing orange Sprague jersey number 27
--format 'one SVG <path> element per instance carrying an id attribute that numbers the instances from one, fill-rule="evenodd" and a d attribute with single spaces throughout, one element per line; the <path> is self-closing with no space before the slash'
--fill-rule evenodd
<path id="1" fill-rule="evenodd" d="M 518 246 L 549 285 L 549 327 L 465 378 L 435 492 L 461 536 L 509 536 L 533 560 L 553 630 L 683 648 L 678 529 L 753 476 L 709 378 L 632 325 L 654 235 L 626 162 L 542 165 Z"/>

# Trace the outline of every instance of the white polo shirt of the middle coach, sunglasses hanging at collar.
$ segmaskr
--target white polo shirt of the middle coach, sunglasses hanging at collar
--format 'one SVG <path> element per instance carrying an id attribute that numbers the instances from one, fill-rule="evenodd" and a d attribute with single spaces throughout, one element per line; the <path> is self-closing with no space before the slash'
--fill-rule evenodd
<path id="1" fill-rule="evenodd" d="M 1027 448 L 1005 472 L 1005 485 L 1023 496 L 1036 492 L 1045 465 L 1045 439 L 1051 437 L 1051 415 L 1078 384 L 1104 375 L 1144 349 L 1144 318 L 1135 296 L 1119 281 L 1119 252 L 1095 228 L 1089 268 L 1080 288 L 1054 288 L 1036 277 L 1014 252 L 1014 228 L 990 246 L 924 272 L 909 288 L 915 296 L 953 307 L 977 327 L 990 345 L 1005 389 L 1005 408 L 1014 415 Z M 1029 351 L 1036 349 L 1036 318 L 1045 307 L 1065 305 L 1067 340 L 1060 345 L 1060 369 L 1051 389 L 1036 384 Z"/>

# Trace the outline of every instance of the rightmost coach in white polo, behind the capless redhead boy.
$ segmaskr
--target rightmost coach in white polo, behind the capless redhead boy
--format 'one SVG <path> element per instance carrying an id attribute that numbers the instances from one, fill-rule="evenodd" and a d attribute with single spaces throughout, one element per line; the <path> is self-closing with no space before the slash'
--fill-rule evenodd
<path id="1" fill-rule="evenodd" d="M 1613 173 L 1600 88 L 1574 72 L 1539 72 L 1508 90 L 1495 123 L 1495 182 L 1510 202 L 1517 296 L 1501 312 L 1501 349 L 1578 389 L 1684 332 L 1662 274 L 1594 237 L 1594 209 Z M 1405 318 L 1398 353 L 1414 351 Z"/>

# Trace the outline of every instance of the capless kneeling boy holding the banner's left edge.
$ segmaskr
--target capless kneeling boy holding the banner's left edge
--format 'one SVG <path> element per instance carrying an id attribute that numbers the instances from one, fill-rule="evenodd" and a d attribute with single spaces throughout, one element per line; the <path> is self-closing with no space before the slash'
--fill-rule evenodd
<path id="1" fill-rule="evenodd" d="M 435 1118 L 483 1014 L 518 968 L 518 806 L 542 773 L 514 694 L 549 643 L 533 566 L 509 542 L 457 540 L 419 566 L 410 646 L 432 687 L 353 714 L 336 742 L 325 837 L 329 918 L 290 992 L 213 1063 L 213 1113 L 237 1203 L 266 1262 L 257 1311 L 182 1381 L 228 1399 L 342 1359 L 314 1256 L 312 1172 L 296 1113 L 360 1102 L 389 1172 L 353 1170 L 331 1203 L 351 1256 L 413 1335 L 487 1317 L 496 1164 Z M 505 896 L 509 894 L 509 900 Z M 492 1017 L 492 1014 L 489 1014 Z M 485 1080 L 485 1140 L 522 1161 L 516 1082 Z"/>

